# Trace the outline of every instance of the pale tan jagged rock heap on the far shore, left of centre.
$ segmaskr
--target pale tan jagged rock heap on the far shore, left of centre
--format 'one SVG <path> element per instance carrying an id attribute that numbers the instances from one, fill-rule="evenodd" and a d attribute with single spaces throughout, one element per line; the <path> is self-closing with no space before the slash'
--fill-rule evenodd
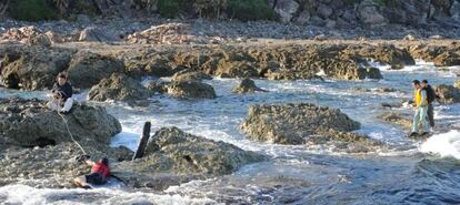
<path id="1" fill-rule="evenodd" d="M 167 23 L 132 33 L 128 35 L 127 41 L 147 44 L 178 44 L 188 42 L 188 33 L 189 27 L 187 24 Z"/>

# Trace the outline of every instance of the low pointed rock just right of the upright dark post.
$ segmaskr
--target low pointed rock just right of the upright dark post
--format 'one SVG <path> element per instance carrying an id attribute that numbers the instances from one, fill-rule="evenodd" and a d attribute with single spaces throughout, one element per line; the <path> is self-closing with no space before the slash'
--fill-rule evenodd
<path id="1" fill-rule="evenodd" d="M 231 174 L 264 156 L 232 144 L 163 127 L 149 142 L 146 156 L 113 166 L 113 174 L 134 187 L 164 189 L 197 178 Z"/>

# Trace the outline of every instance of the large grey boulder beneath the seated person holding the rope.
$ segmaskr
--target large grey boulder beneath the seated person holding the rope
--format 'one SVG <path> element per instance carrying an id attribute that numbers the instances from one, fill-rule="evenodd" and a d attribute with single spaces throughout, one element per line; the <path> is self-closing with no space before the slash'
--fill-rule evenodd
<path id="1" fill-rule="evenodd" d="M 11 144 L 32 147 L 72 142 L 63 119 L 44 109 L 46 102 L 21 99 L 0 102 L 0 135 Z M 121 132 L 120 122 L 100 106 L 74 104 L 63 117 L 74 140 L 83 144 L 108 145 Z"/>

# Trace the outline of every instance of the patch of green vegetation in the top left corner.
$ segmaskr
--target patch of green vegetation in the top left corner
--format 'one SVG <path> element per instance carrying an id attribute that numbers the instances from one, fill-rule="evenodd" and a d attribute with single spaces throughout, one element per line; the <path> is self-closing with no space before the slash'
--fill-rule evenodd
<path id="1" fill-rule="evenodd" d="M 58 19 L 59 14 L 47 0 L 12 0 L 9 13 L 12 18 L 24 21 Z"/>

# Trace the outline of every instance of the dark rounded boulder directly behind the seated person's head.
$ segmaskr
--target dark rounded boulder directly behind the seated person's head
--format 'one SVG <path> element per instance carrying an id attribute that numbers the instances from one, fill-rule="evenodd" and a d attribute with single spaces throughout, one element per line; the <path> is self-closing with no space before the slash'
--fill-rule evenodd
<path id="1" fill-rule="evenodd" d="M 120 60 L 87 51 L 78 52 L 68 69 L 72 85 L 79 89 L 89 89 L 116 72 L 123 72 Z"/>

